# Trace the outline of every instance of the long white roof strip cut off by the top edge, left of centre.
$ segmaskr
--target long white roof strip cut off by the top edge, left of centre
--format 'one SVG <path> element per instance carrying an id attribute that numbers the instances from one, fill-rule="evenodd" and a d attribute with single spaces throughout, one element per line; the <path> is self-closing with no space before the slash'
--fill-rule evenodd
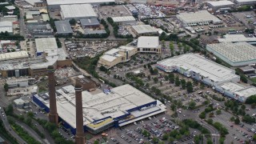
<path id="1" fill-rule="evenodd" d="M 82 3 L 105 3 L 115 2 L 114 0 L 46 0 L 48 5 L 70 5 Z"/>

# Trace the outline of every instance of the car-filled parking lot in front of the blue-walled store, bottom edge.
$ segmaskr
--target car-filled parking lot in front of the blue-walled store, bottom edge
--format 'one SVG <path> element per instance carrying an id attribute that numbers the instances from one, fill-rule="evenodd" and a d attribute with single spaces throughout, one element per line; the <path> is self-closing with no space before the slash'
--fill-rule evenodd
<path id="1" fill-rule="evenodd" d="M 110 137 L 109 143 L 145 143 L 162 141 L 163 135 L 173 130 L 179 130 L 179 126 L 169 119 L 169 115 L 159 114 L 142 121 L 134 122 L 129 126 L 121 127 L 117 130 L 117 134 Z M 190 134 L 182 136 L 176 143 L 190 143 L 194 140 L 195 130 L 190 130 Z M 166 141 L 166 143 L 168 143 Z"/>

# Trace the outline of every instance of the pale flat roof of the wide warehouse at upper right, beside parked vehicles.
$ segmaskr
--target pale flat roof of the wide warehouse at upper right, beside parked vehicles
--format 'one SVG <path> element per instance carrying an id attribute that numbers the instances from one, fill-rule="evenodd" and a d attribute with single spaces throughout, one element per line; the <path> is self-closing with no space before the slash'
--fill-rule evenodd
<path id="1" fill-rule="evenodd" d="M 190 13 L 180 13 L 177 15 L 177 17 L 182 19 L 182 21 L 186 23 L 206 22 L 206 21 L 222 22 L 213 14 L 210 14 L 207 10 L 199 10 L 199 11 L 190 12 Z"/>

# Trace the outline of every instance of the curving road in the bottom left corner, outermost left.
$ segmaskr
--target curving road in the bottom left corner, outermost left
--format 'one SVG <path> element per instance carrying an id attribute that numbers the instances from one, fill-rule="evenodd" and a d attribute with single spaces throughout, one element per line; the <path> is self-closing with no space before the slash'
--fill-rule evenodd
<path id="1" fill-rule="evenodd" d="M 3 125 L 5 126 L 6 130 L 7 130 L 14 138 L 16 138 L 16 140 L 18 141 L 18 143 L 26 144 L 26 142 L 25 142 L 22 138 L 20 138 L 20 137 L 18 136 L 18 134 L 16 134 L 16 133 L 14 132 L 14 130 L 11 128 L 11 126 L 10 126 L 10 124 L 9 124 L 7 118 L 6 118 L 6 114 L 5 114 L 4 110 L 2 110 L 2 108 L 1 108 L 1 112 L 3 112 L 3 113 L 0 114 L 0 118 L 2 118 L 2 122 L 3 122 Z"/>

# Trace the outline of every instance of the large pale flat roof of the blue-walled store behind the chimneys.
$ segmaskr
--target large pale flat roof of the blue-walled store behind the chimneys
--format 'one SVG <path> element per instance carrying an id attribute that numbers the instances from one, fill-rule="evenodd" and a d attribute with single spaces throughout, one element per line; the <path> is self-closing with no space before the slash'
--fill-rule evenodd
<path id="1" fill-rule="evenodd" d="M 88 91 L 82 91 L 83 123 L 86 126 L 92 126 L 93 122 L 101 119 L 114 119 L 125 114 L 128 110 L 144 106 L 151 102 L 156 102 L 147 94 L 135 89 L 128 84 L 118 86 L 110 90 L 109 94 L 92 94 Z M 76 126 L 75 121 L 75 95 L 74 86 L 64 86 L 56 90 L 58 115 L 70 126 Z M 34 95 L 49 107 L 49 94 Z M 162 104 L 161 102 L 158 105 Z M 161 110 L 159 106 L 158 110 Z M 142 110 L 143 111 L 143 110 Z M 149 112 L 150 113 L 150 112 Z M 100 126 L 92 126 L 100 127 Z"/>

